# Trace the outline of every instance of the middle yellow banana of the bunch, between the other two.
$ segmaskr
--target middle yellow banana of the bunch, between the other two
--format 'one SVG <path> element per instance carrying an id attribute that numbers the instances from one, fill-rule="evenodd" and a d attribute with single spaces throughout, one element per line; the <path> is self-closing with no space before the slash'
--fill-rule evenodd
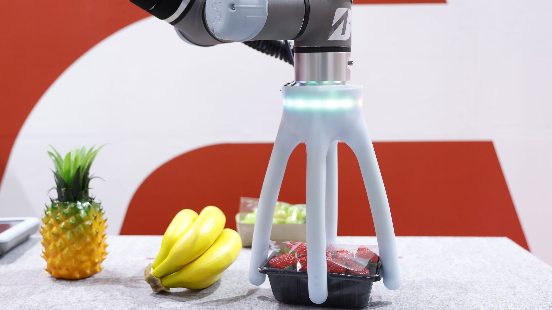
<path id="1" fill-rule="evenodd" d="M 167 258 L 153 269 L 153 275 L 160 278 L 172 274 L 198 258 L 219 237 L 225 223 L 226 217 L 219 208 L 205 207 L 192 226 L 174 244 Z"/>

